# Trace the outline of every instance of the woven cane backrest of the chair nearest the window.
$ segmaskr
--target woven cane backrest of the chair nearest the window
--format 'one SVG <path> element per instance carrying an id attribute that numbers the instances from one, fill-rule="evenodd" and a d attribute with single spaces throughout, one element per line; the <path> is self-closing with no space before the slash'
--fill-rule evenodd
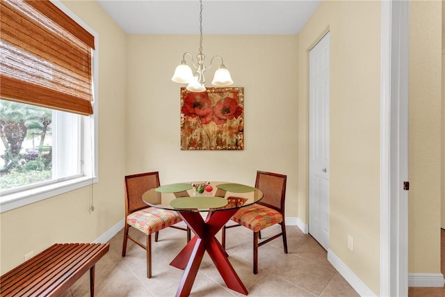
<path id="1" fill-rule="evenodd" d="M 151 188 L 159 187 L 159 172 L 146 172 L 125 177 L 125 216 L 148 207 L 142 195 Z"/>

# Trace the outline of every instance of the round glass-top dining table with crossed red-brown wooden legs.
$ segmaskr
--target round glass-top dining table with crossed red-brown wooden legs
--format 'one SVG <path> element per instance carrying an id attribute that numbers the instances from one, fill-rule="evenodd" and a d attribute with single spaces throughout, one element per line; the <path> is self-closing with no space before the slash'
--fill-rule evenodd
<path id="1" fill-rule="evenodd" d="M 210 186 L 199 193 L 197 185 Z M 232 182 L 184 182 L 152 188 L 143 193 L 143 201 L 151 207 L 177 211 L 195 234 L 170 262 L 184 270 L 176 296 L 189 296 L 207 251 L 229 289 L 247 295 L 248 290 L 236 274 L 223 246 L 215 235 L 241 207 L 259 202 L 263 193 L 252 186 Z M 202 212 L 207 211 L 203 218 Z"/>

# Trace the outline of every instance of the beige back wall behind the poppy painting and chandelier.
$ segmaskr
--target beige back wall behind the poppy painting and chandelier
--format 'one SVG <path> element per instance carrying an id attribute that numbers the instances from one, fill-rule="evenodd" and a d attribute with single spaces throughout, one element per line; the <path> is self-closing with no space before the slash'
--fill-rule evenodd
<path id="1" fill-rule="evenodd" d="M 171 81 L 199 35 L 127 38 L 127 172 L 159 170 L 161 183 L 223 180 L 254 184 L 257 170 L 286 174 L 286 216 L 297 216 L 296 35 L 204 35 L 207 63 L 220 55 L 244 88 L 243 151 L 180 150 L 180 88 Z M 207 70 L 213 79 L 218 64 Z"/>

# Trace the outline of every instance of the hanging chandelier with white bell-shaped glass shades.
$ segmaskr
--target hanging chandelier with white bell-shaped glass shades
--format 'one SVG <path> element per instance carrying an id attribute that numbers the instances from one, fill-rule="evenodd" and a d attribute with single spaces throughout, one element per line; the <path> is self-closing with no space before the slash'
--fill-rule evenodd
<path id="1" fill-rule="evenodd" d="M 187 64 L 186 56 L 190 56 L 192 59 L 193 67 L 195 67 L 194 74 L 191 67 Z M 188 83 L 186 89 L 191 92 L 204 92 L 204 90 L 206 90 L 206 87 L 204 86 L 204 83 L 206 82 L 204 72 L 211 67 L 214 58 L 220 58 L 220 67 L 218 70 L 216 70 L 211 83 L 213 86 L 229 86 L 234 83 L 234 81 L 232 81 L 232 77 L 230 77 L 229 70 L 227 70 L 224 65 L 223 58 L 221 56 L 213 56 L 208 66 L 204 65 L 205 57 L 206 56 L 202 54 L 202 0 L 200 0 L 200 48 L 199 53 L 196 55 L 197 65 L 193 60 L 193 56 L 186 51 L 182 55 L 181 63 L 177 65 L 175 69 L 175 74 L 173 74 L 172 81 L 175 81 L 175 83 Z"/>

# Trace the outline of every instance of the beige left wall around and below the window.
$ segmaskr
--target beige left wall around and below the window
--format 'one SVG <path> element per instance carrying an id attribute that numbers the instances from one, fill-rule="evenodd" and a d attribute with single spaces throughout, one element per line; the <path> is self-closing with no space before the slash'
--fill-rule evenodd
<path id="1" fill-rule="evenodd" d="M 97 239 L 124 217 L 125 35 L 95 1 L 64 1 L 99 33 L 99 183 L 0 214 L 1 274 L 58 242 Z M 90 213 L 90 196 L 95 211 Z"/>

